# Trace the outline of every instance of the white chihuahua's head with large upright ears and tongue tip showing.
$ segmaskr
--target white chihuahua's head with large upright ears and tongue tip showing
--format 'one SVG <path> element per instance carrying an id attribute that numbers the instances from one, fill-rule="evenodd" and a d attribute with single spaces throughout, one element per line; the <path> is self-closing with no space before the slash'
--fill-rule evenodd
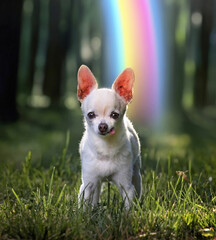
<path id="1" fill-rule="evenodd" d="M 77 79 L 77 96 L 88 126 L 101 136 L 115 134 L 133 97 L 133 70 L 126 68 L 112 89 L 98 89 L 94 75 L 85 65 L 79 68 Z"/>

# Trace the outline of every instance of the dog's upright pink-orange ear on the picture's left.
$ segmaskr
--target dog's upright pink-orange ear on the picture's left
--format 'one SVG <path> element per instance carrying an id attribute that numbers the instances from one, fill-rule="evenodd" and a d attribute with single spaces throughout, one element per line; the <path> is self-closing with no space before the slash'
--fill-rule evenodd
<path id="1" fill-rule="evenodd" d="M 96 89 L 98 87 L 97 81 L 91 72 L 91 70 L 85 66 L 82 65 L 77 73 L 77 97 L 80 102 L 84 100 L 86 96 L 89 95 L 89 93 Z"/>

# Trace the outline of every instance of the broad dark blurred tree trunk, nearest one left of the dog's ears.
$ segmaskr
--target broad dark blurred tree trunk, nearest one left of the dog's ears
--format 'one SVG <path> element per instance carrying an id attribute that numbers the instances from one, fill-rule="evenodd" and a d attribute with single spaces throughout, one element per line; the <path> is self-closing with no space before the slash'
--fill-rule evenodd
<path id="1" fill-rule="evenodd" d="M 65 5 L 63 6 L 63 4 Z M 61 98 L 63 70 L 70 42 L 71 4 L 71 1 L 50 0 L 49 37 L 43 92 L 50 97 L 52 105 L 59 104 Z"/>

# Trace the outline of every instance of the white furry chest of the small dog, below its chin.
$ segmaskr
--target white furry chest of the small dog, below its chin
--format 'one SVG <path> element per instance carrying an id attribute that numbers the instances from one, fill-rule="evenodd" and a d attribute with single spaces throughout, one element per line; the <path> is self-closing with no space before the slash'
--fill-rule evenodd
<path id="1" fill-rule="evenodd" d="M 83 138 L 80 144 L 83 173 L 98 177 L 109 177 L 119 171 L 132 168 L 131 142 L 122 138 L 117 142 L 102 142 Z"/>

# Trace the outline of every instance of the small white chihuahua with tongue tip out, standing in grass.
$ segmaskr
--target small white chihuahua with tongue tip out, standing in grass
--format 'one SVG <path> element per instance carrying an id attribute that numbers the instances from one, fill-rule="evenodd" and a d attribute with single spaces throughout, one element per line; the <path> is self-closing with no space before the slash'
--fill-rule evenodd
<path id="1" fill-rule="evenodd" d="M 134 73 L 125 69 L 112 89 L 98 89 L 90 69 L 82 65 L 78 71 L 77 95 L 85 119 L 85 132 L 80 142 L 82 199 L 96 205 L 101 183 L 108 179 L 117 185 L 128 208 L 135 196 L 141 195 L 140 143 L 132 123 L 126 117 L 132 100 Z"/>

